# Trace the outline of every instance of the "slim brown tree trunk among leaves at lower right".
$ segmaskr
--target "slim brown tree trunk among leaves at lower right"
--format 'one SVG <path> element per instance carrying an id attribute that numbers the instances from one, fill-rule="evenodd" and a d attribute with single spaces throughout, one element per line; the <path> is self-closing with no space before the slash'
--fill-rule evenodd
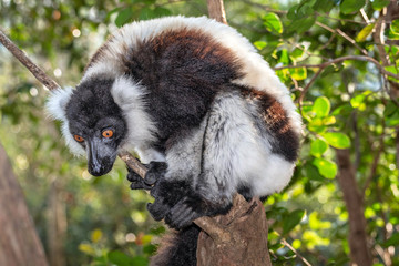
<path id="1" fill-rule="evenodd" d="M 371 255 L 366 234 L 362 197 L 356 182 L 355 167 L 349 150 L 336 150 L 338 161 L 338 183 L 349 214 L 349 248 L 351 265 L 371 266 Z"/>

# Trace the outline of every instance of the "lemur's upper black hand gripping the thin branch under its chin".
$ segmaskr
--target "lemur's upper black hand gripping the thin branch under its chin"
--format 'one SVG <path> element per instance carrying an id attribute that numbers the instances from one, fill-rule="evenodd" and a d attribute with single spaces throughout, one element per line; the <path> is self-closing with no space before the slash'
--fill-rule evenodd
<path id="1" fill-rule="evenodd" d="M 163 162 L 150 162 L 144 165 L 147 168 L 144 178 L 127 167 L 127 180 L 132 182 L 132 190 L 151 190 L 166 172 L 167 164 Z"/>

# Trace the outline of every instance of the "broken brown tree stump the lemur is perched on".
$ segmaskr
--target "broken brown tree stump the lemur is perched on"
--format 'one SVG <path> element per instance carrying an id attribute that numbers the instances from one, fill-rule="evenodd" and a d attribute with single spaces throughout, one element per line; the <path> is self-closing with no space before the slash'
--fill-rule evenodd
<path id="1" fill-rule="evenodd" d="M 197 266 L 269 266 L 267 221 L 259 200 L 246 202 L 237 195 L 231 212 L 212 218 L 222 233 L 200 233 Z"/>

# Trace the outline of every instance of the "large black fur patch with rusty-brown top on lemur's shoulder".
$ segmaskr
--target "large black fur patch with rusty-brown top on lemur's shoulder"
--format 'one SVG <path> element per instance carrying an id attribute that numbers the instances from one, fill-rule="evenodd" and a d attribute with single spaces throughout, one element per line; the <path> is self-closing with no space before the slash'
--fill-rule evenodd
<path id="1" fill-rule="evenodd" d="M 163 32 L 123 60 L 126 74 L 149 90 L 161 140 L 197 126 L 219 86 L 241 76 L 232 51 L 200 30 Z"/>

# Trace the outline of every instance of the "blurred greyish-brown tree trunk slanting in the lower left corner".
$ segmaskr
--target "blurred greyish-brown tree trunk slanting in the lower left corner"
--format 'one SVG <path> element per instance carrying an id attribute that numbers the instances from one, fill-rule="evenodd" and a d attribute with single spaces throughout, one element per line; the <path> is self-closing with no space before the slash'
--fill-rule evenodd
<path id="1" fill-rule="evenodd" d="M 0 145 L 0 265 L 47 266 L 22 190 Z"/>

